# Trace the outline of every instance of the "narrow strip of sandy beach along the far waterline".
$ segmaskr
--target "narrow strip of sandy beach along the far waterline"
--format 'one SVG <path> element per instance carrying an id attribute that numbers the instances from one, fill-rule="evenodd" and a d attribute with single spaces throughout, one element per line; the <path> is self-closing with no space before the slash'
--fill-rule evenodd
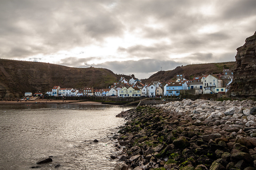
<path id="1" fill-rule="evenodd" d="M 24 100 L 16 101 L 0 101 L 0 105 L 2 104 L 84 104 L 84 105 L 106 105 L 102 104 L 101 102 L 90 102 L 90 101 L 78 101 L 78 100 L 27 100 L 26 102 Z"/>

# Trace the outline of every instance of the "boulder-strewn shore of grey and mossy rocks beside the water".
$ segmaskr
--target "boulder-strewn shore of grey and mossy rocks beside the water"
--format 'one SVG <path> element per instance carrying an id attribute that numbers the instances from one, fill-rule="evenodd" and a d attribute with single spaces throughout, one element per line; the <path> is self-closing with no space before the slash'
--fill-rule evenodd
<path id="1" fill-rule="evenodd" d="M 114 170 L 254 170 L 255 106 L 182 100 L 121 112 Z"/>

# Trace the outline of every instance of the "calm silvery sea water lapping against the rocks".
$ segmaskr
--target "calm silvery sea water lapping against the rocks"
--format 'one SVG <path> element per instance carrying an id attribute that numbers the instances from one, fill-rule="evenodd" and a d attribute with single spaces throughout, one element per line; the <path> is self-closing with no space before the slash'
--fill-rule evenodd
<path id="1" fill-rule="evenodd" d="M 122 110 L 73 104 L 0 106 L 0 169 L 50 170 L 57 164 L 58 169 L 111 169 L 116 162 L 110 159 L 115 153 L 110 137 L 125 122 L 115 117 Z M 53 156 L 51 163 L 36 164 L 48 156 Z"/>

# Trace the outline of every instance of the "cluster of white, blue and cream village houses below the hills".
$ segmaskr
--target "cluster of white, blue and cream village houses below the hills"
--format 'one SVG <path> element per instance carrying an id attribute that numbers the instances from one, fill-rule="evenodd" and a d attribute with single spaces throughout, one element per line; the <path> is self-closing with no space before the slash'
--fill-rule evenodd
<path id="1" fill-rule="evenodd" d="M 180 94 L 225 94 L 233 80 L 233 72 L 223 69 L 221 74 L 202 74 L 186 80 L 184 74 L 177 74 L 175 78 L 168 81 L 152 81 L 143 84 L 141 80 L 131 78 L 120 78 L 106 89 L 94 89 L 85 87 L 83 89 L 61 88 L 54 86 L 46 92 L 49 96 L 115 96 L 115 97 L 161 97 L 180 96 Z M 34 96 L 41 96 L 35 93 Z M 25 96 L 33 96 L 31 92 Z"/>

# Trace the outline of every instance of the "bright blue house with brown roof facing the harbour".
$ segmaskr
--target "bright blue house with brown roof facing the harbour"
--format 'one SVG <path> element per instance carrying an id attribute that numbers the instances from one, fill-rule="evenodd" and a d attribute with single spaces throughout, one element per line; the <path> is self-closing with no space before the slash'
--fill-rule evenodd
<path id="1" fill-rule="evenodd" d="M 166 95 L 167 96 L 179 96 L 180 90 L 187 90 L 188 85 L 186 82 L 172 82 L 166 86 Z"/>

